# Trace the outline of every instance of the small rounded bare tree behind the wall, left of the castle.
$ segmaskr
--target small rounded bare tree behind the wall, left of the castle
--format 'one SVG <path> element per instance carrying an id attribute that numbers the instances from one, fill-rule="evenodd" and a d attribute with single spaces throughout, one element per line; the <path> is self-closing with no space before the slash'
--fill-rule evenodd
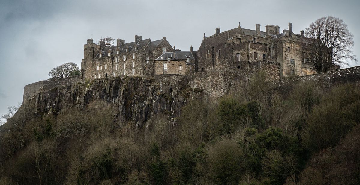
<path id="1" fill-rule="evenodd" d="M 70 77 L 77 74 L 79 74 L 79 67 L 72 62 L 59 65 L 49 71 L 49 76 L 59 78 Z"/>

